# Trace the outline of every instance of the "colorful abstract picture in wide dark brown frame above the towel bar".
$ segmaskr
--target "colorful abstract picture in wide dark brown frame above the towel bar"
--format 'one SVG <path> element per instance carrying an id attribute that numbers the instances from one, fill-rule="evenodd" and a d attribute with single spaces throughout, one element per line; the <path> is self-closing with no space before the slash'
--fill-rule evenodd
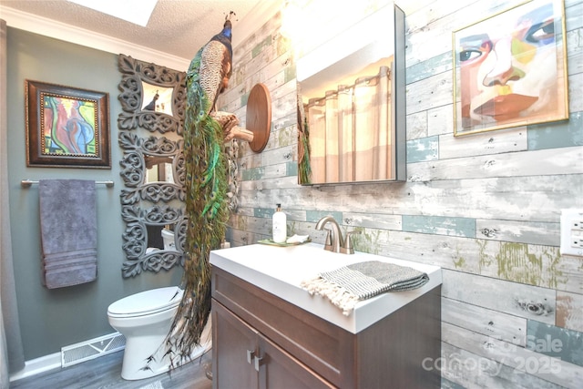
<path id="1" fill-rule="evenodd" d="M 26 80 L 26 165 L 111 169 L 109 95 Z"/>

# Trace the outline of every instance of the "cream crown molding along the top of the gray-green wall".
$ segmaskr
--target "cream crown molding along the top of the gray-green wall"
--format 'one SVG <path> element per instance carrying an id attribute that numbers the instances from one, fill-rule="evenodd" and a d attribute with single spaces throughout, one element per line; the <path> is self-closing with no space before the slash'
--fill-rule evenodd
<path id="1" fill-rule="evenodd" d="M 186 71 L 189 68 L 190 59 L 171 56 L 168 53 L 138 46 L 113 36 L 97 34 L 77 26 L 66 25 L 43 16 L 28 14 L 2 5 L 0 5 L 0 15 L 6 21 L 7 26 L 41 36 L 95 48 L 107 53 L 125 54 L 140 61 L 155 63 L 174 70 Z"/>

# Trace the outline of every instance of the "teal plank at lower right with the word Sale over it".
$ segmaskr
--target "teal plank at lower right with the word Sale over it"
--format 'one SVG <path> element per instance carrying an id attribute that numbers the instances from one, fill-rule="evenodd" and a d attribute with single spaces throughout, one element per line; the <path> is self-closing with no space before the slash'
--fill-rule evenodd
<path id="1" fill-rule="evenodd" d="M 583 366 L 583 333 L 528 320 L 527 349 Z"/>

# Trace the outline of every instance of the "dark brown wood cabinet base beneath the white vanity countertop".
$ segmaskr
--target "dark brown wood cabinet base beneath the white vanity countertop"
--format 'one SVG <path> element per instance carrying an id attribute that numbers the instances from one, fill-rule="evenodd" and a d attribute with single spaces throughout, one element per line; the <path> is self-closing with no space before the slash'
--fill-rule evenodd
<path id="1" fill-rule="evenodd" d="M 438 388 L 441 286 L 350 333 L 212 268 L 213 388 Z"/>

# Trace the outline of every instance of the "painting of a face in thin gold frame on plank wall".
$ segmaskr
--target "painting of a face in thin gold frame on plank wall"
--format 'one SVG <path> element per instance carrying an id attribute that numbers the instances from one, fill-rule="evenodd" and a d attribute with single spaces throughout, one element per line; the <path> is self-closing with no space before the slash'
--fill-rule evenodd
<path id="1" fill-rule="evenodd" d="M 568 119 L 563 0 L 532 0 L 453 32 L 454 135 Z"/>

